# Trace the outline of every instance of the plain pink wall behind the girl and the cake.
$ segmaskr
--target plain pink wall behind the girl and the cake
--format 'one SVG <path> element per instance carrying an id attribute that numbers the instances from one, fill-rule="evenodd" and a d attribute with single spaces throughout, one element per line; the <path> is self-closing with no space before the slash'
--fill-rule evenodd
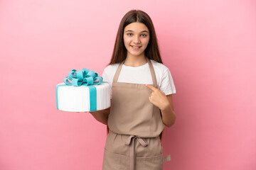
<path id="1" fill-rule="evenodd" d="M 256 169 L 256 3 L 0 1 L 0 169 L 101 169 L 105 125 L 55 107 L 71 69 L 100 75 L 119 22 L 149 13 L 177 94 L 164 169 Z"/>

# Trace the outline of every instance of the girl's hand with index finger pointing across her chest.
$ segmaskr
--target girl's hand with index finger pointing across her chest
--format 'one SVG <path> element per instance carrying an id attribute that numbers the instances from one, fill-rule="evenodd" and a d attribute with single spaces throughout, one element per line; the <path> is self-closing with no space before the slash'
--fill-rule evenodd
<path id="1" fill-rule="evenodd" d="M 149 89 L 152 90 L 149 96 L 149 101 L 154 104 L 154 106 L 159 107 L 162 111 L 169 106 L 169 101 L 163 91 L 156 89 L 154 86 L 146 84 Z"/>

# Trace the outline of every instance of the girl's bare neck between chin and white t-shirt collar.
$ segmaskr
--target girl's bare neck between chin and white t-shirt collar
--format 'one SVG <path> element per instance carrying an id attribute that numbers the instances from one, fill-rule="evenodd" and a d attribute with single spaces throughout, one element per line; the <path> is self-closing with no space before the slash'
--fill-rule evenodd
<path id="1" fill-rule="evenodd" d="M 133 56 L 133 55 L 127 55 L 126 59 L 124 60 L 124 65 L 130 66 L 130 67 L 139 67 L 144 64 L 146 64 L 146 56 Z"/>

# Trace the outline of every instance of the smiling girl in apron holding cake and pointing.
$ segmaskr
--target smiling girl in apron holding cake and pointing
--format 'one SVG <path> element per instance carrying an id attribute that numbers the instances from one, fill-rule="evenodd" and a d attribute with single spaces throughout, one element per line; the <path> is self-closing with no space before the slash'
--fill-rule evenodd
<path id="1" fill-rule="evenodd" d="M 107 125 L 103 170 L 163 169 L 170 157 L 162 157 L 161 132 L 176 120 L 171 97 L 176 89 L 143 11 L 122 18 L 102 77 L 112 86 L 111 107 L 91 113 Z"/>

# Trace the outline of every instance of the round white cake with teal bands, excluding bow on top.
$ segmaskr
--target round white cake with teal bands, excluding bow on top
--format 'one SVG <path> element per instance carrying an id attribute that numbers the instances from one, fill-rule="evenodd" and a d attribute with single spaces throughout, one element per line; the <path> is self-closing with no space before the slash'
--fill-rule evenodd
<path id="1" fill-rule="evenodd" d="M 56 106 L 60 111 L 70 112 L 100 111 L 109 108 L 110 84 L 103 82 L 99 85 L 68 86 L 60 83 L 56 86 Z"/>

